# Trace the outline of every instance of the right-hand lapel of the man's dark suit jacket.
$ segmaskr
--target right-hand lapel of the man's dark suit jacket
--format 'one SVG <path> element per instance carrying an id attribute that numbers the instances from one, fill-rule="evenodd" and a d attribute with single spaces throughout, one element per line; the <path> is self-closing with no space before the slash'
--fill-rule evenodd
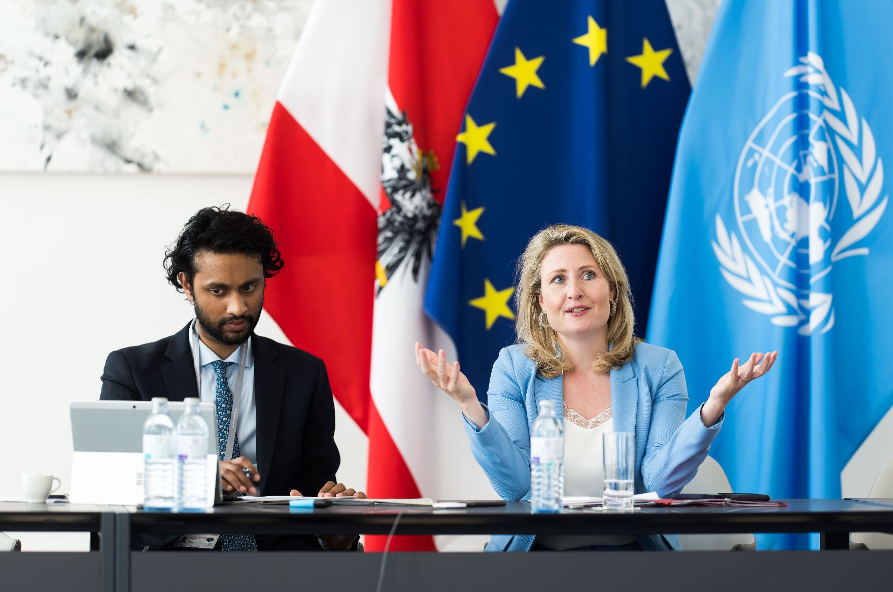
<path id="1" fill-rule="evenodd" d="M 257 423 L 257 471 L 261 473 L 258 486 L 263 495 L 267 473 L 270 472 L 282 394 L 285 391 L 285 371 L 273 363 L 276 351 L 266 339 L 252 336 L 255 354 L 255 421 Z M 305 494 L 307 492 L 302 491 Z M 314 492 L 315 493 L 315 492 Z"/>

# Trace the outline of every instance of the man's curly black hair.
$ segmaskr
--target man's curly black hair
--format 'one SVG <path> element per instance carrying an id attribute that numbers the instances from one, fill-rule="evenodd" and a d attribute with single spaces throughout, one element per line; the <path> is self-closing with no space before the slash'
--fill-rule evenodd
<path id="1" fill-rule="evenodd" d="M 196 254 L 243 253 L 256 256 L 263 265 L 263 277 L 271 278 L 282 269 L 282 261 L 272 230 L 255 215 L 230 211 L 230 204 L 202 208 L 189 219 L 177 241 L 164 253 L 164 271 L 177 291 L 183 291 L 179 272 L 189 285 L 196 277 Z"/>

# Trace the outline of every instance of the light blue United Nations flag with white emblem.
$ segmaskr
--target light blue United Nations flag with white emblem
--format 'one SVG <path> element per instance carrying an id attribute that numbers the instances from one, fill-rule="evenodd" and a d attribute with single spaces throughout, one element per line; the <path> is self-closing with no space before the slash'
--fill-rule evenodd
<path id="1" fill-rule="evenodd" d="M 737 491 L 839 497 L 893 404 L 890 22 L 873 0 L 724 2 L 698 73 L 648 339 L 679 354 L 689 411 L 734 357 L 779 350 L 711 452 Z"/>

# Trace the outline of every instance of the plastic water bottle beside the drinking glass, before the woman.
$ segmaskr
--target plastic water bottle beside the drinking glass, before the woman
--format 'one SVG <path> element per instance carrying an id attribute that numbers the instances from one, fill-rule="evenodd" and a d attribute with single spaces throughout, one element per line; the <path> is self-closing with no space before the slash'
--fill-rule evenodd
<path id="1" fill-rule="evenodd" d="M 561 512 L 564 440 L 552 401 L 539 402 L 539 415 L 530 432 L 530 489 L 533 512 Z"/>

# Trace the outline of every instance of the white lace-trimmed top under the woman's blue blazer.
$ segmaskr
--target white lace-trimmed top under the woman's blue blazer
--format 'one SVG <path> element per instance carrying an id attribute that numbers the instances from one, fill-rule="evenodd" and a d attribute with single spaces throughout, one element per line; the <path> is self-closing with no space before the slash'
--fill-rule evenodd
<path id="1" fill-rule="evenodd" d="M 601 497 L 605 479 L 602 434 L 613 431 L 613 413 L 605 409 L 591 420 L 564 405 L 564 495 Z M 626 545 L 633 535 L 555 535 L 537 537 L 542 546 L 572 549 L 588 545 Z"/>

